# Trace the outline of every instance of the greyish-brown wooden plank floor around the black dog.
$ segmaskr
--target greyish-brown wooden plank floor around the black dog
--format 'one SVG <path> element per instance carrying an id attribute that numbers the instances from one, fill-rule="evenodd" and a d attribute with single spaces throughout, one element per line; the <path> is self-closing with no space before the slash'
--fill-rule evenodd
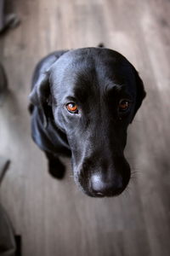
<path id="1" fill-rule="evenodd" d="M 170 1 L 8 1 L 22 20 L 0 38 L 10 94 L 0 108 L 0 154 L 11 160 L 0 199 L 23 256 L 170 255 Z M 27 112 L 31 74 L 55 49 L 104 43 L 127 57 L 144 80 L 147 98 L 128 129 L 133 169 L 119 197 L 83 195 L 71 176 L 48 175 L 31 141 Z"/>

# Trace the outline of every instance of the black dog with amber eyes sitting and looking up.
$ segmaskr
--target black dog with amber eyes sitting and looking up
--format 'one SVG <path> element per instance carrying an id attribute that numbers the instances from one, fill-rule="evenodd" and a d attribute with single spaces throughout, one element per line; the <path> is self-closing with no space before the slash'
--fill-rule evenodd
<path id="1" fill-rule="evenodd" d="M 87 195 L 119 195 L 130 178 L 123 150 L 127 125 L 145 96 L 139 74 L 105 48 L 58 51 L 37 65 L 31 90 L 31 131 L 61 178 L 59 154 L 71 156 L 75 180 Z"/>

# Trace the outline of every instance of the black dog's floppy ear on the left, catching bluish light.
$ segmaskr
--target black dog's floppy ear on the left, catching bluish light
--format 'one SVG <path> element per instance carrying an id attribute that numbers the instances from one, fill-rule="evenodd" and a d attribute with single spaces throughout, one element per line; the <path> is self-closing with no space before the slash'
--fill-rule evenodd
<path id="1" fill-rule="evenodd" d="M 48 110 L 51 105 L 51 96 L 49 88 L 49 74 L 48 72 L 41 73 L 37 82 L 31 90 L 30 101 L 37 108 L 42 110 L 43 126 L 48 126 Z"/>

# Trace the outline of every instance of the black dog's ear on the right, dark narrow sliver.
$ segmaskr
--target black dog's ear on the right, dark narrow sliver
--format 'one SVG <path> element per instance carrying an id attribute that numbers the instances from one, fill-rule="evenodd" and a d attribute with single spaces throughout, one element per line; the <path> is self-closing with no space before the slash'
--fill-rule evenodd
<path id="1" fill-rule="evenodd" d="M 133 113 L 133 118 L 135 114 L 137 113 L 138 109 L 140 108 L 144 97 L 146 96 L 146 92 L 144 90 L 144 84 L 142 79 L 139 77 L 139 73 L 136 71 L 134 68 L 134 73 L 135 73 L 135 83 L 136 83 L 136 102 L 135 102 L 135 107 L 134 107 L 134 113 Z M 133 121 L 133 118 L 131 120 L 131 123 Z"/>

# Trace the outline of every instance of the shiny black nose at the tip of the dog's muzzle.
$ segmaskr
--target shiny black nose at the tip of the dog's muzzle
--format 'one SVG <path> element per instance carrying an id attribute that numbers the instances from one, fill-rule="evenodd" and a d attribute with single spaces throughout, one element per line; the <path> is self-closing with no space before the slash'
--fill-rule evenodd
<path id="1" fill-rule="evenodd" d="M 119 195 L 125 189 L 122 176 L 116 175 L 115 178 L 105 180 L 100 174 L 94 174 L 91 177 L 90 189 L 96 197 Z"/>

